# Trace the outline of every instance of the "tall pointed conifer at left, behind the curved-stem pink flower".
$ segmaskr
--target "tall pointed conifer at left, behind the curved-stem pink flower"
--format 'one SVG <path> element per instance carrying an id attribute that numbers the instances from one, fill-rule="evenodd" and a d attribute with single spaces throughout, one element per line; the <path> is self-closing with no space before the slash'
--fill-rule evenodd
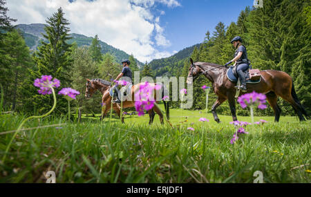
<path id="1" fill-rule="evenodd" d="M 46 34 L 43 36 L 48 40 L 48 43 L 41 41 L 42 45 L 39 46 L 34 57 L 37 71 L 32 71 L 30 82 L 33 83 L 33 80 L 41 77 L 41 75 L 52 75 L 59 79 L 61 87 L 68 87 L 71 82 L 70 67 L 72 59 L 70 58 L 71 45 L 67 44 L 66 41 L 70 39 L 68 35 L 70 29 L 67 27 L 69 23 L 64 18 L 62 8 L 59 8 L 52 17 L 48 17 L 46 23 L 48 24 L 44 28 Z M 59 102 L 57 102 L 58 110 L 55 113 L 66 112 L 67 103 L 61 100 L 61 97 L 61 95 L 57 95 Z M 51 108 L 53 97 L 51 95 L 50 97 L 37 95 L 36 92 L 33 92 L 32 102 L 34 102 L 34 107 L 42 113 Z"/>

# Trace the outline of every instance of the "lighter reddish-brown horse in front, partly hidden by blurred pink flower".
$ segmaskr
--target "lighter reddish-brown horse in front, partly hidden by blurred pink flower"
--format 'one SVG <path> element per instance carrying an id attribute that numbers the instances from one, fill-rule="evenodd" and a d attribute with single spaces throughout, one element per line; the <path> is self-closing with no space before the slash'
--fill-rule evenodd
<path id="1" fill-rule="evenodd" d="M 102 118 L 104 118 L 104 116 L 109 112 L 109 110 L 111 109 L 111 100 L 113 99 L 111 97 L 111 95 L 109 94 L 109 91 L 111 90 L 111 82 L 107 82 L 103 79 L 86 79 L 86 91 L 85 91 L 85 97 L 89 98 L 93 95 L 93 93 L 95 93 L 95 91 L 100 91 L 102 93 L 102 104 L 104 104 L 106 106 L 106 109 L 104 111 L 102 111 L 102 115 L 101 115 L 101 120 Z M 134 100 L 134 93 L 136 93 L 137 91 L 139 91 L 140 89 L 140 84 L 135 84 L 131 87 L 131 97 L 132 100 L 131 101 L 124 101 L 122 102 L 122 108 L 129 108 L 129 107 L 133 107 L 135 106 L 135 100 Z M 151 86 L 154 86 L 155 84 L 150 83 Z M 164 93 L 164 86 L 162 86 L 162 94 Z M 156 91 L 153 92 L 154 98 L 156 100 Z M 163 97 L 163 96 L 162 96 Z M 169 119 L 169 102 L 164 102 L 164 108 L 167 114 L 167 118 Z M 117 112 L 117 115 L 119 115 L 120 118 L 120 111 L 121 111 L 121 106 L 120 104 L 116 104 L 113 103 L 113 109 Z M 154 113 L 156 111 L 156 113 L 158 113 L 158 115 L 160 116 L 160 122 L 161 124 L 164 124 L 163 122 L 163 114 L 162 111 L 158 108 L 158 106 L 153 106 L 153 108 L 151 110 L 148 111 L 149 113 L 149 124 L 153 123 L 153 118 L 156 115 L 156 113 Z M 122 123 L 124 123 L 124 117 L 122 116 Z"/>

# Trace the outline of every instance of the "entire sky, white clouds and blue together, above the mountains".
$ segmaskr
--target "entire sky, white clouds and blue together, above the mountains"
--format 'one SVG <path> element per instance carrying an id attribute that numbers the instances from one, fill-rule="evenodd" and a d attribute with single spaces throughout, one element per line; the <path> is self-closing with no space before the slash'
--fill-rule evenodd
<path id="1" fill-rule="evenodd" d="M 169 57 L 229 26 L 254 0 L 9 0 L 15 24 L 45 24 L 62 7 L 71 32 L 94 37 L 140 62 Z"/>

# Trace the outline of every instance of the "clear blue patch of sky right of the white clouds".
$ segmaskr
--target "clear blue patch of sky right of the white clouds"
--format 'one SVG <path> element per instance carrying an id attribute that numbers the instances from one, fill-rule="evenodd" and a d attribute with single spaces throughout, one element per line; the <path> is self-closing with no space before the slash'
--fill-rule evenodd
<path id="1" fill-rule="evenodd" d="M 167 8 L 159 5 L 165 15 L 160 18 L 164 35 L 171 41 L 169 51 L 198 44 L 203 41 L 207 30 L 214 32 L 215 26 L 222 21 L 229 26 L 236 22 L 241 10 L 252 7 L 252 0 L 182 0 L 181 6 Z"/>

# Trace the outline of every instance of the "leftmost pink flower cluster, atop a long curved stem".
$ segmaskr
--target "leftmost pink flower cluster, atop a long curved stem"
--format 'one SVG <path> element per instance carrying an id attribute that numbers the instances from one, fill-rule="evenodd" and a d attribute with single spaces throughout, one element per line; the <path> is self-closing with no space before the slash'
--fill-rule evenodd
<path id="1" fill-rule="evenodd" d="M 41 95 L 50 95 L 52 88 L 58 88 L 60 86 L 59 79 L 53 79 L 51 75 L 42 75 L 41 79 L 35 79 L 34 86 L 40 88 L 38 93 Z"/>

